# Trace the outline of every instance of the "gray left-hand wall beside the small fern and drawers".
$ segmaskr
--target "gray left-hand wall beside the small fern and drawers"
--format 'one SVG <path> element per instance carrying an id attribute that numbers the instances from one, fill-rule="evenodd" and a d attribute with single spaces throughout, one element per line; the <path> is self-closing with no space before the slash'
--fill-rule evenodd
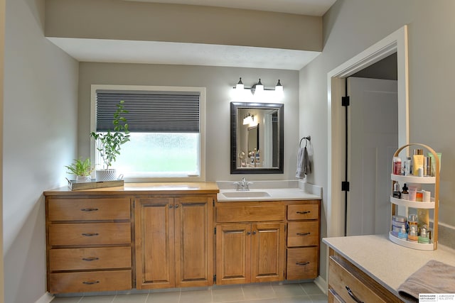
<path id="1" fill-rule="evenodd" d="M 4 53 L 4 300 L 45 294 L 43 190 L 76 152 L 77 70 L 43 35 L 43 0 L 7 0 Z"/>

